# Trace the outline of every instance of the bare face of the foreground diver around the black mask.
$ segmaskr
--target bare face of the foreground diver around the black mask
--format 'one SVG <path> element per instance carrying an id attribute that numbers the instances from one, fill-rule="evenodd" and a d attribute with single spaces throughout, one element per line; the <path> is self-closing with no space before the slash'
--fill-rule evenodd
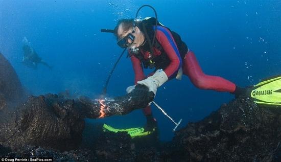
<path id="1" fill-rule="evenodd" d="M 121 24 L 118 28 L 118 39 L 121 40 L 130 33 L 134 36 L 134 40 L 127 39 L 127 42 L 130 44 L 128 48 L 130 49 L 138 48 L 140 45 L 143 44 L 144 34 L 137 27 L 135 27 L 134 29 L 131 28 L 127 31 L 124 31 Z"/>

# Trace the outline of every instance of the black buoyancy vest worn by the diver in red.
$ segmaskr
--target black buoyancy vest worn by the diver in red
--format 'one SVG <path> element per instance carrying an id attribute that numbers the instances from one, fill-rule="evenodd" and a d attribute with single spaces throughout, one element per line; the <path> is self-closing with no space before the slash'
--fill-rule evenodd
<path id="1" fill-rule="evenodd" d="M 145 24 L 147 35 L 149 36 L 151 41 L 153 40 L 153 36 L 154 36 L 153 26 L 155 26 L 155 20 L 156 19 L 154 17 L 150 17 L 150 18 L 146 18 L 146 19 L 142 20 L 141 22 L 139 22 L 138 24 L 136 24 L 137 27 L 141 31 L 144 31 L 142 24 L 143 23 Z M 162 24 L 160 24 L 159 22 L 157 22 L 157 26 L 165 27 Z M 167 28 L 167 27 L 165 27 L 165 28 Z M 181 59 L 183 59 L 185 54 L 188 53 L 188 46 L 181 40 L 180 36 L 176 32 L 171 31 L 169 28 L 167 28 L 167 29 L 171 32 L 171 34 L 176 42 L 177 48 L 179 50 Z M 158 40 L 156 38 L 155 38 L 153 48 L 156 48 L 157 50 L 159 50 L 161 52 L 161 54 L 157 57 L 152 56 L 151 60 L 145 59 L 144 56 L 140 52 L 135 53 L 133 55 L 142 62 L 144 68 L 148 68 L 148 67 L 154 68 L 155 67 L 155 71 L 158 69 L 161 69 L 161 68 L 165 69 L 170 64 L 171 61 L 170 61 L 167 53 L 163 50 L 163 48 L 161 47 L 161 44 L 158 42 Z M 144 48 L 142 48 L 142 49 L 144 51 L 151 52 L 148 48 L 148 43 L 146 43 L 144 45 Z"/>

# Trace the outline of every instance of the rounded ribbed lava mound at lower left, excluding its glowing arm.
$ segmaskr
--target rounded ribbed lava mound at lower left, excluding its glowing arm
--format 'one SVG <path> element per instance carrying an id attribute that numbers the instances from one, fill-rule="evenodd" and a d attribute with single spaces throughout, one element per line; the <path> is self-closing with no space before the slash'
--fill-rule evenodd
<path id="1" fill-rule="evenodd" d="M 73 100 L 48 95 L 30 97 L 0 127 L 0 143 L 13 149 L 36 145 L 70 150 L 81 141 L 84 120 Z"/>

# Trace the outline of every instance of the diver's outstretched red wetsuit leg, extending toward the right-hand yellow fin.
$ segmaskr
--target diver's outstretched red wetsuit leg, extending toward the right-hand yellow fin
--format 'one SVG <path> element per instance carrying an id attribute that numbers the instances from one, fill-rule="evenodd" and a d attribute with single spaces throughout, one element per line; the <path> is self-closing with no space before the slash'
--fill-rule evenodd
<path id="1" fill-rule="evenodd" d="M 191 82 L 200 89 L 212 89 L 226 92 L 234 92 L 236 89 L 235 83 L 218 76 L 204 74 L 192 51 L 189 51 L 184 57 L 183 73 L 188 75 Z"/>

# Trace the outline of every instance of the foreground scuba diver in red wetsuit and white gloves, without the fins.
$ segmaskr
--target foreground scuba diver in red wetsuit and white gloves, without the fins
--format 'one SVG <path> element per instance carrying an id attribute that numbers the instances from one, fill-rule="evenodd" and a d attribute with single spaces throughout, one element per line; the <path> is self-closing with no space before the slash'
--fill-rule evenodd
<path id="1" fill-rule="evenodd" d="M 181 79 L 182 74 L 188 76 L 200 89 L 230 92 L 236 97 L 245 92 L 246 88 L 240 88 L 222 77 L 204 74 L 195 54 L 180 36 L 153 17 L 143 20 L 121 19 L 114 34 L 118 38 L 118 45 L 128 49 L 135 73 L 134 84 L 146 85 L 154 95 L 159 86 L 173 78 Z M 148 67 L 155 70 L 145 76 L 143 68 Z M 128 87 L 127 92 L 131 92 L 134 86 Z M 156 127 L 150 106 L 143 111 L 147 125 Z"/>

